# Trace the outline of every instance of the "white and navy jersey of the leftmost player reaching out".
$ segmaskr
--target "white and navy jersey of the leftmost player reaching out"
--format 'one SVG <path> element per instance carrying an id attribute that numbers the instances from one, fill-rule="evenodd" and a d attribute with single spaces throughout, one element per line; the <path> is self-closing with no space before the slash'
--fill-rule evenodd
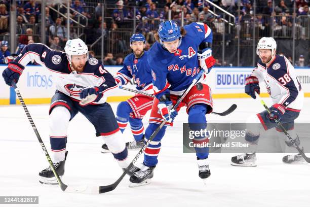
<path id="1" fill-rule="evenodd" d="M 83 73 L 78 73 L 71 70 L 66 53 L 54 51 L 40 43 L 32 43 L 22 50 L 15 61 L 26 66 L 31 60 L 54 72 L 57 77 L 56 89 L 77 101 L 81 100 L 79 93 L 83 89 L 102 86 L 103 98 L 94 103 L 103 103 L 106 97 L 112 94 L 111 89 L 117 88 L 113 76 L 104 70 L 102 62 L 94 57 L 90 57 L 86 62 Z"/>

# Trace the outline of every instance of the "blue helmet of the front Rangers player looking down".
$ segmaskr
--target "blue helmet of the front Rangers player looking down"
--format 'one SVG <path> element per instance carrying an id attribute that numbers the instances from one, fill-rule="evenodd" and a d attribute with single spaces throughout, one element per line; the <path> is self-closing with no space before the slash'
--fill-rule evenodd
<path id="1" fill-rule="evenodd" d="M 158 35 L 160 42 L 171 42 L 181 39 L 181 29 L 173 20 L 162 22 L 159 25 Z"/>

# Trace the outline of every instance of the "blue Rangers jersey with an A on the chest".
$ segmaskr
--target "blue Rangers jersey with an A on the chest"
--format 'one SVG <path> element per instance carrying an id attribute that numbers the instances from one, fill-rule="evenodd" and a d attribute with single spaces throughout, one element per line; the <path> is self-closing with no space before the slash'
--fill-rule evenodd
<path id="1" fill-rule="evenodd" d="M 181 95 L 199 73 L 199 45 L 203 42 L 212 43 L 212 31 L 208 25 L 199 22 L 184 28 L 186 36 L 174 54 L 158 42 L 149 50 L 148 63 L 152 70 L 154 94 L 170 87 L 171 94 Z"/>

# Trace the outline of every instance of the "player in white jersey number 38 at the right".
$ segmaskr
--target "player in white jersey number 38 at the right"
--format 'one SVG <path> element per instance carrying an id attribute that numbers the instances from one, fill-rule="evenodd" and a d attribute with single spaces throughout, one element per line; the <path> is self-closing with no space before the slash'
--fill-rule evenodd
<path id="1" fill-rule="evenodd" d="M 248 149 L 249 153 L 232 157 L 231 165 L 256 166 L 255 149 L 260 130 L 276 127 L 279 136 L 285 137 L 287 147 L 295 147 L 278 127 L 276 118 L 284 125 L 296 145 L 300 144 L 294 130 L 294 120 L 299 116 L 303 106 L 303 91 L 296 77 L 294 66 L 285 56 L 277 55 L 276 50 L 277 43 L 273 38 L 261 38 L 257 44 L 256 53 L 260 60 L 252 75 L 246 78 L 245 92 L 255 99 L 255 91 L 260 92 L 259 83 L 264 82 L 267 92 L 272 98 L 273 106 L 269 108 L 271 114 L 265 110 L 247 119 L 247 123 L 258 123 L 260 127 L 247 125 L 245 140 L 251 144 Z M 293 164 L 306 163 L 300 154 L 286 155 L 282 161 Z"/>

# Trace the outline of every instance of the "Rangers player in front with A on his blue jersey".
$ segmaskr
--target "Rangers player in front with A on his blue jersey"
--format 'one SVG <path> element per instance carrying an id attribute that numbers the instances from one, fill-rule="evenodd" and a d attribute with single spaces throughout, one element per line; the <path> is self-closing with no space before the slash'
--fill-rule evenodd
<path id="1" fill-rule="evenodd" d="M 141 170 L 130 177 L 132 185 L 147 184 L 153 177 L 153 170 L 158 164 L 161 140 L 167 125 L 171 124 L 181 107 L 186 107 L 191 130 L 205 129 L 206 114 L 211 113 L 213 109 L 211 89 L 204 82 L 206 76 L 203 75 L 185 96 L 177 110 L 171 110 L 178 96 L 199 74 L 200 67 L 208 73 L 215 63 L 211 51 L 212 31 L 208 25 L 195 22 L 180 28 L 174 21 L 162 22 L 156 39 L 157 42 L 153 44 L 148 54 L 156 98 L 153 102 L 149 125 L 145 130 L 145 139 L 149 139 L 164 119 L 167 123 L 144 150 Z M 205 136 L 196 136 L 193 139 L 194 143 L 208 141 L 208 137 Z M 207 161 L 209 149 L 196 148 L 196 152 L 199 177 L 206 179 L 210 176 Z"/>

